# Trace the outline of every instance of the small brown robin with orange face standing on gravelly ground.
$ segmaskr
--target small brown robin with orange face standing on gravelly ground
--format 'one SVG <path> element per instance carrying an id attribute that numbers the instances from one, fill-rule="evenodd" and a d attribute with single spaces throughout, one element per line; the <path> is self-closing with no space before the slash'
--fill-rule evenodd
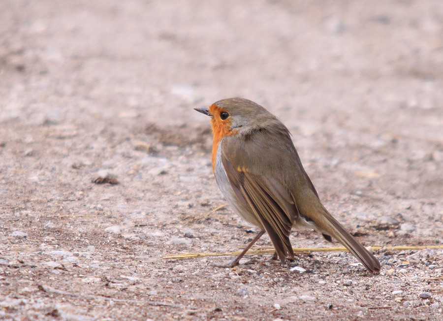
<path id="1" fill-rule="evenodd" d="M 231 266 L 266 232 L 282 262 L 294 258 L 293 225 L 314 228 L 342 243 L 371 272 L 380 262 L 326 210 L 306 174 L 289 130 L 262 106 L 223 99 L 195 110 L 211 117 L 212 169 L 230 206 L 260 232 Z M 277 258 L 274 255 L 275 258 Z"/>

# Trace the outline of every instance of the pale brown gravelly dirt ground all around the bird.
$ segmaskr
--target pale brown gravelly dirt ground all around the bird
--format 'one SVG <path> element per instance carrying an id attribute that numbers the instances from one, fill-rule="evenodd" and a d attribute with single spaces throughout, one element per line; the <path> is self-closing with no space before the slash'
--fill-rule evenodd
<path id="1" fill-rule="evenodd" d="M 232 96 L 283 120 L 364 245 L 441 245 L 442 34 L 439 0 L 0 1 L 0 319 L 442 320 L 442 250 L 376 251 L 376 276 L 340 252 L 162 259 L 253 238 L 210 213 L 193 110 Z"/>

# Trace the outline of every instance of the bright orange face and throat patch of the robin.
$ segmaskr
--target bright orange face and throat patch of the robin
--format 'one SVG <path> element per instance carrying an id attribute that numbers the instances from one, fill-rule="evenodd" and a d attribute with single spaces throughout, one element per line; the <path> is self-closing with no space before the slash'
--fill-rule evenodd
<path id="1" fill-rule="evenodd" d="M 212 134 L 214 137 L 212 143 L 212 170 L 215 172 L 217 150 L 221 138 L 227 135 L 233 135 L 237 131 L 232 130 L 231 116 L 229 115 L 229 112 L 226 109 L 223 109 L 217 106 L 216 104 L 212 104 L 209 107 L 209 112 L 212 114 L 211 125 L 212 125 Z"/>

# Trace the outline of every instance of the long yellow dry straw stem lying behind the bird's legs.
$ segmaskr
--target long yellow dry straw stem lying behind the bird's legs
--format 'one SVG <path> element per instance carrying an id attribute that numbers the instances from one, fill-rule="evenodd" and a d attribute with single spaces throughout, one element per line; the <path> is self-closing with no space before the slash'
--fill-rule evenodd
<path id="1" fill-rule="evenodd" d="M 439 246 L 374 246 L 372 247 L 374 251 L 383 250 L 423 250 L 423 249 L 443 249 L 443 245 Z M 312 253 L 312 252 L 348 252 L 344 247 L 337 248 L 292 248 L 294 253 Z M 246 255 L 266 255 L 273 254 L 274 248 L 271 247 L 261 247 L 261 248 L 251 248 L 251 250 L 246 253 Z M 227 252 L 227 253 L 183 253 L 183 254 L 170 254 L 162 257 L 163 259 L 191 259 L 197 257 L 228 257 L 228 256 L 238 256 L 239 251 Z"/>

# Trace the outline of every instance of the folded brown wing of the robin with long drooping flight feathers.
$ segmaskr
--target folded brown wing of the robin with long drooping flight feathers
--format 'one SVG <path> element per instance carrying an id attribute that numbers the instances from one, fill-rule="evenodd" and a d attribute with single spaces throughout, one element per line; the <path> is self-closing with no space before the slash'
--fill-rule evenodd
<path id="1" fill-rule="evenodd" d="M 295 201 L 283 185 L 253 169 L 236 166 L 221 152 L 226 176 L 240 202 L 258 218 L 275 247 L 279 258 L 294 257 L 289 234 L 298 217 Z"/>

